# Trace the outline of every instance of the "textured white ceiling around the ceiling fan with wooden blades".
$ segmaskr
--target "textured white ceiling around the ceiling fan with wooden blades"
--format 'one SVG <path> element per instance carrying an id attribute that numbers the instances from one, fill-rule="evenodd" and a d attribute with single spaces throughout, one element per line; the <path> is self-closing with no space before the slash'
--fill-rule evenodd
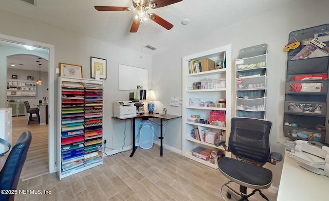
<path id="1" fill-rule="evenodd" d="M 149 9 L 149 13 L 156 13 L 173 24 L 171 30 L 148 20 L 136 33 L 129 32 L 136 11 L 97 11 L 94 8 L 133 8 L 131 0 L 34 0 L 35 5 L 22 0 L 1 0 L 0 11 L 3 9 L 137 51 L 141 50 L 141 46 L 151 45 L 157 49 L 142 48 L 142 51 L 152 54 L 198 40 L 218 27 L 234 24 L 294 1 L 297 0 L 183 0 Z M 185 19 L 190 21 L 188 25 L 182 25 L 181 21 Z"/>

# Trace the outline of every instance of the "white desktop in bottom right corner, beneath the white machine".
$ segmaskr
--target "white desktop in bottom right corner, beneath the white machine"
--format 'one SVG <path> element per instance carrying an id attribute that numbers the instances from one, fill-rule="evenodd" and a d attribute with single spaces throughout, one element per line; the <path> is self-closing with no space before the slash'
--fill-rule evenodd
<path id="1" fill-rule="evenodd" d="M 300 167 L 286 151 L 278 201 L 283 200 L 327 200 L 329 177 L 318 175 Z"/>

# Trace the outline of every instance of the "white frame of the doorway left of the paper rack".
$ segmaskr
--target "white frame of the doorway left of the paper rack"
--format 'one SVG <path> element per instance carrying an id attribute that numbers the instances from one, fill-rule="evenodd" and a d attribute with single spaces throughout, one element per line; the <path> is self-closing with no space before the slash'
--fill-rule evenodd
<path id="1" fill-rule="evenodd" d="M 55 75 L 55 68 L 54 68 L 54 46 L 46 43 L 41 43 L 38 41 L 31 41 L 27 39 L 17 38 L 10 35 L 5 35 L 0 33 L 0 40 L 13 42 L 13 43 L 20 43 L 20 44 L 27 44 L 35 47 L 49 49 L 49 61 L 48 61 L 48 90 L 49 90 L 49 124 L 48 124 L 48 165 L 49 165 L 49 172 L 56 172 L 56 142 L 55 139 L 55 128 L 56 120 L 54 119 L 54 75 Z M 1 101 L 0 101 L 1 102 Z"/>

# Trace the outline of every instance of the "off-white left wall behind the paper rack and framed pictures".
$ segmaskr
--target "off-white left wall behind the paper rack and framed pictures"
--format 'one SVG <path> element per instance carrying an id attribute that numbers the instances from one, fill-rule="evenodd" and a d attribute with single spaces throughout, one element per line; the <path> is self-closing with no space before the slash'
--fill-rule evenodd
<path id="1" fill-rule="evenodd" d="M 107 60 L 107 79 L 104 80 L 104 139 L 106 139 L 106 147 L 120 150 L 129 147 L 132 143 L 131 121 L 118 121 L 112 118 L 112 102 L 115 100 L 129 99 L 128 91 L 118 90 L 118 66 L 125 64 L 130 66 L 142 67 L 149 69 L 149 80 L 151 77 L 151 56 L 143 54 L 140 58 L 140 52 L 132 51 L 122 47 L 89 38 L 87 36 L 66 31 L 59 27 L 41 23 L 31 19 L 26 19 L 20 15 L 16 15 L 7 11 L 0 12 L 0 33 L 17 38 L 23 38 L 31 41 L 51 44 L 54 46 L 54 67 L 58 67 L 59 63 L 69 63 L 82 65 L 83 78 L 90 78 L 90 57 L 97 57 Z M 42 27 L 42 28 L 41 28 Z M 38 30 L 38 31 L 35 31 Z M 115 40 L 115 39 L 114 39 Z M 1 49 L 0 49 L 1 50 Z M 4 50 L 5 51 L 5 50 Z M 6 93 L 7 67 L 5 56 L 0 51 L 0 97 Z M 50 66 L 51 64 L 49 64 Z M 53 69 L 55 70 L 52 66 Z M 54 80 L 57 82 L 58 75 L 55 74 Z M 54 97 L 57 97 L 57 83 L 55 86 Z M 151 86 L 149 84 L 149 86 Z M 0 107 L 6 107 L 4 97 L 1 98 Z M 57 98 L 54 100 L 55 117 L 57 114 Z M 49 108 L 49 109 L 54 109 Z M 54 129 L 57 129 L 55 122 Z M 126 133 L 124 133 L 124 126 Z M 54 131 L 57 134 L 57 131 Z M 56 139 L 56 138 L 55 138 Z M 54 140 L 54 144 L 56 144 Z M 56 148 L 56 145 L 55 145 Z M 106 149 L 110 152 L 111 149 Z M 54 153 L 57 153 L 55 150 Z M 50 156 L 50 160 L 56 160 L 56 154 Z"/>

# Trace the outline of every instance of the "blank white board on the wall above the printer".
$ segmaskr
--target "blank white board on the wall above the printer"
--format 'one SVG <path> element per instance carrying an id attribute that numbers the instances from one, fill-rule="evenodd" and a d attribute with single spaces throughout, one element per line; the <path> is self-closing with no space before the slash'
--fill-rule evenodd
<path id="1" fill-rule="evenodd" d="M 119 90 L 134 89 L 137 85 L 148 90 L 148 75 L 148 69 L 119 64 Z"/>

